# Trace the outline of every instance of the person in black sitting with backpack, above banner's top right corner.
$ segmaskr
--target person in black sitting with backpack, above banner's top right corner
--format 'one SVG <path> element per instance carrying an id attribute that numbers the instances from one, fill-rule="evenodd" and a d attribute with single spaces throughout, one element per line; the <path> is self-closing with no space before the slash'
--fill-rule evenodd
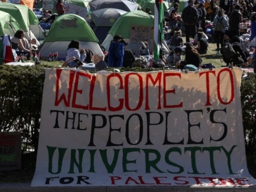
<path id="1" fill-rule="evenodd" d="M 231 57 L 229 60 L 225 61 L 226 66 L 228 66 L 228 64 L 230 63 L 233 63 L 233 65 L 238 65 L 237 67 L 241 67 L 241 66 L 247 67 L 248 66 L 247 58 L 241 47 L 239 37 L 235 35 L 232 38 L 231 43 L 234 51 L 236 51 L 236 55 Z"/>

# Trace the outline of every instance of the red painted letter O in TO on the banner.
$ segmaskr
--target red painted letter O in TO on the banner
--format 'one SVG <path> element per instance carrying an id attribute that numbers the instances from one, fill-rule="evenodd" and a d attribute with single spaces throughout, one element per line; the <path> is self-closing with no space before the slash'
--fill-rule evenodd
<path id="1" fill-rule="evenodd" d="M 228 102 L 224 102 L 224 101 L 222 100 L 222 98 L 221 98 L 221 86 L 220 86 L 220 84 L 221 84 L 221 78 L 220 78 L 220 76 L 221 76 L 221 73 L 222 73 L 223 71 L 227 71 L 228 74 L 229 74 L 229 76 L 230 76 L 231 98 L 230 98 L 230 100 L 229 100 Z M 223 89 L 226 90 L 226 87 L 224 87 Z M 225 69 L 222 69 L 222 70 L 218 73 L 218 75 L 217 75 L 217 93 L 218 93 L 218 99 L 219 99 L 219 101 L 220 101 L 222 104 L 224 104 L 224 105 L 228 105 L 228 104 L 230 104 L 230 103 L 232 102 L 232 100 L 234 100 L 234 80 L 233 80 L 233 74 L 232 74 L 232 72 L 231 72 L 230 69 L 225 68 Z"/>

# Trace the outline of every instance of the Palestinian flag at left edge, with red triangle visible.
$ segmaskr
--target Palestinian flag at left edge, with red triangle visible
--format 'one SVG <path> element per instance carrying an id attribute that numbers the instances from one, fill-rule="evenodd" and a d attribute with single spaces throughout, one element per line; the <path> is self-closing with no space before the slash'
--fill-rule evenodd
<path id="1" fill-rule="evenodd" d="M 12 47 L 10 45 L 10 36 L 5 35 L 0 37 L 0 65 L 2 63 L 10 63 L 14 61 L 12 55 Z"/>

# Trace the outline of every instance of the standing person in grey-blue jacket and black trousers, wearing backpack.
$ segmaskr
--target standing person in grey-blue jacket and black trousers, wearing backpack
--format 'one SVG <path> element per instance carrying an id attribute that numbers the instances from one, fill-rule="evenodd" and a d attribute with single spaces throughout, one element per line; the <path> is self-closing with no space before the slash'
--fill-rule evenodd
<path id="1" fill-rule="evenodd" d="M 213 20 L 214 36 L 217 45 L 217 55 L 222 54 L 225 29 L 228 28 L 228 21 L 224 18 L 224 10 L 219 10 L 217 17 Z M 221 44 L 221 51 L 220 51 Z"/>

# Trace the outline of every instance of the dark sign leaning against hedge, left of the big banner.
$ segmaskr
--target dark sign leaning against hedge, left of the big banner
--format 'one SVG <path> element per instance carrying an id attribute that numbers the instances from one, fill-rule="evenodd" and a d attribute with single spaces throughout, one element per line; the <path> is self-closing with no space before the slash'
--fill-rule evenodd
<path id="1" fill-rule="evenodd" d="M 21 135 L 0 132 L 0 171 L 21 169 Z"/>

